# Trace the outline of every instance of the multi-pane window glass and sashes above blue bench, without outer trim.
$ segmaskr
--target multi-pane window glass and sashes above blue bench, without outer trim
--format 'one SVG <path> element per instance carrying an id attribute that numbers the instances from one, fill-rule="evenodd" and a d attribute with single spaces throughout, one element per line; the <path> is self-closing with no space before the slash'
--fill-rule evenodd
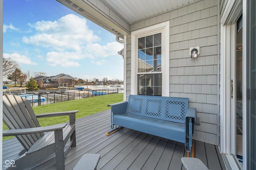
<path id="1" fill-rule="evenodd" d="M 139 95 L 162 96 L 162 33 L 138 38 Z"/>

